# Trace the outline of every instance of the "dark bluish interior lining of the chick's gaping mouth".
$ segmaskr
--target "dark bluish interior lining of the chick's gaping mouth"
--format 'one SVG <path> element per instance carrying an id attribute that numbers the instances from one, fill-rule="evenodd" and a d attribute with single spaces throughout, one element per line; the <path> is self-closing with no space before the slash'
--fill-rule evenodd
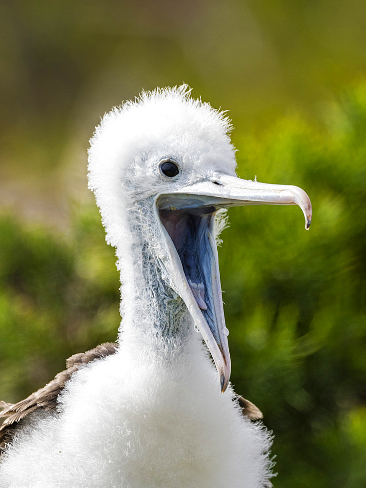
<path id="1" fill-rule="evenodd" d="M 185 279 L 215 339 L 215 309 L 211 270 L 214 265 L 211 245 L 216 208 L 197 207 L 182 210 L 160 209 L 160 219 L 181 260 Z"/>

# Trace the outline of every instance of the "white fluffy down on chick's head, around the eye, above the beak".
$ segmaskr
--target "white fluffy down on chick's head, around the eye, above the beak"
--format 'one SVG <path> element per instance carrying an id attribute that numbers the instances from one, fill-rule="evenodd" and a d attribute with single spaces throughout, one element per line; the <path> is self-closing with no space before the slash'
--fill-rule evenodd
<path id="1" fill-rule="evenodd" d="M 218 168 L 235 174 L 230 121 L 190 94 L 185 84 L 142 92 L 135 101 L 113 108 L 96 128 L 89 149 L 89 188 L 95 192 L 112 245 L 118 244 L 117 214 L 164 190 L 167 183 L 158 170 L 162 159 L 180 164 L 184 170 L 180 184 L 200 174 L 207 177 Z"/>

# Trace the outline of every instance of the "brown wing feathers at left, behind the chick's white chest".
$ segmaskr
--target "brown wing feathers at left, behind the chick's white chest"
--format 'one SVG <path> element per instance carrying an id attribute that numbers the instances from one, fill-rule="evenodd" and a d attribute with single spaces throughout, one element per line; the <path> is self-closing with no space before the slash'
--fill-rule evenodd
<path id="1" fill-rule="evenodd" d="M 30 394 L 24 400 L 15 404 L 8 404 L 0 402 L 0 418 L 5 417 L 0 426 L 0 449 L 10 442 L 16 427 L 19 427 L 21 419 L 26 417 L 29 413 L 34 412 L 39 408 L 44 410 L 53 410 L 57 406 L 57 397 L 61 390 L 70 379 L 71 375 L 79 369 L 83 364 L 90 363 L 94 359 L 100 359 L 110 354 L 114 354 L 117 350 L 116 343 L 105 343 L 100 346 L 90 349 L 90 351 L 74 354 L 66 360 L 66 368 L 61 373 L 58 373 L 55 378 L 47 383 L 46 386 L 40 388 L 34 393 Z"/>

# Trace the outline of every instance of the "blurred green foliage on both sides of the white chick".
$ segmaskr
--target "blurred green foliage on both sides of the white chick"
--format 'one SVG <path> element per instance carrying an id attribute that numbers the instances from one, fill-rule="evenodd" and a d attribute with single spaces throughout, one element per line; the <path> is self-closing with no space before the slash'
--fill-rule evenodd
<path id="1" fill-rule="evenodd" d="M 366 485 L 366 83 L 324 112 L 236 136 L 243 178 L 302 186 L 297 207 L 230 210 L 220 249 L 232 381 L 275 434 L 276 485 Z M 235 134 L 234 134 L 235 138 Z M 0 220 L 0 396 L 116 338 L 119 280 L 95 207 L 63 237 Z"/>

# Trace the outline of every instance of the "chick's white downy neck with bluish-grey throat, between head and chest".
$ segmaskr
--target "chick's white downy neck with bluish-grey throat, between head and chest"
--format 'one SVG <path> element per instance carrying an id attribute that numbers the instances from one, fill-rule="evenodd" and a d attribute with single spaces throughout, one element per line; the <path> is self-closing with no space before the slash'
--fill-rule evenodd
<path id="1" fill-rule="evenodd" d="M 193 319 L 170 286 L 164 263 L 158 257 L 162 255 L 158 246 L 163 239 L 153 204 L 136 203 L 125 224 L 128 235 L 121 239 L 117 251 L 122 283 L 121 338 L 151 344 L 153 336 L 153 343 L 164 348 L 172 342 L 185 342 L 193 329 Z"/>

